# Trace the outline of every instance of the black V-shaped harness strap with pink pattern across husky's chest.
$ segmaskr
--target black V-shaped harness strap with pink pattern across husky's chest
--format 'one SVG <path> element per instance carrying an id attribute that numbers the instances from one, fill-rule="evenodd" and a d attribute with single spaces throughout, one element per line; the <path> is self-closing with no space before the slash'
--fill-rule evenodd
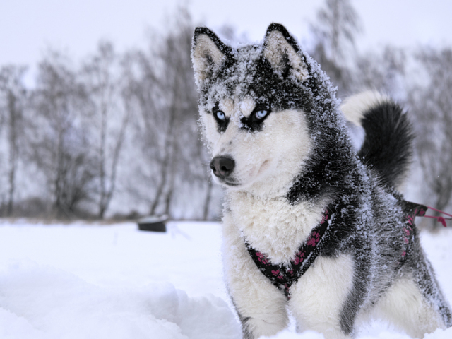
<path id="1" fill-rule="evenodd" d="M 333 219 L 334 213 L 332 208 L 326 208 L 323 211 L 320 225 L 311 231 L 307 242 L 299 246 L 295 258 L 290 260 L 288 266 L 273 265 L 267 256 L 256 249 L 253 249 L 249 243 L 245 241 L 246 249 L 248 249 L 251 258 L 259 270 L 265 275 L 273 285 L 279 290 L 284 291 L 287 299 L 290 299 L 290 287 L 297 283 L 298 279 L 307 271 L 314 260 L 319 256 L 322 249 L 328 244 L 331 237 L 329 226 Z"/>

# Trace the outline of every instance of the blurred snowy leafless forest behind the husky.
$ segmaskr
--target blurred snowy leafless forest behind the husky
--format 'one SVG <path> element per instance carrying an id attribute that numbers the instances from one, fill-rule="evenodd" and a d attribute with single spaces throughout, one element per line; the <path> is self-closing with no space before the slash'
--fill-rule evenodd
<path id="1" fill-rule="evenodd" d="M 194 25 L 179 8 L 166 34 L 141 49 L 119 53 L 101 41 L 81 60 L 50 49 L 33 88 L 23 82 L 27 65 L 1 66 L 0 216 L 218 220 L 222 192 L 198 135 Z M 230 26 L 219 33 L 246 42 Z M 451 47 L 360 54 L 358 35 L 350 2 L 326 0 L 300 42 L 338 97 L 375 88 L 407 107 L 416 131 L 409 197 L 451 208 Z"/>

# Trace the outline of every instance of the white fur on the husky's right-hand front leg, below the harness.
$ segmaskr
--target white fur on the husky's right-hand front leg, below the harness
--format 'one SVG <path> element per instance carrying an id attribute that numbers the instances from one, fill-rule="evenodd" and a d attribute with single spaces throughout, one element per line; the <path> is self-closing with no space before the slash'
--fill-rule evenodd
<path id="1" fill-rule="evenodd" d="M 328 338 L 350 338 L 340 330 L 340 311 L 353 286 L 351 256 L 319 256 L 309 270 L 291 287 L 289 308 L 299 329 L 323 333 Z"/>

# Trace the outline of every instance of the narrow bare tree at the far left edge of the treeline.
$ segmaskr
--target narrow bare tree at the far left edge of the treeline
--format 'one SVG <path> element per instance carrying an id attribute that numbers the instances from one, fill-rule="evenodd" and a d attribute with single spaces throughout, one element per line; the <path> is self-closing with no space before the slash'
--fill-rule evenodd
<path id="1" fill-rule="evenodd" d="M 23 109 L 26 100 L 23 66 L 4 66 L 0 69 L 0 114 L 3 112 L 8 133 L 8 201 L 6 214 L 13 213 L 16 193 L 16 172 L 19 156 L 19 138 L 23 131 Z"/>

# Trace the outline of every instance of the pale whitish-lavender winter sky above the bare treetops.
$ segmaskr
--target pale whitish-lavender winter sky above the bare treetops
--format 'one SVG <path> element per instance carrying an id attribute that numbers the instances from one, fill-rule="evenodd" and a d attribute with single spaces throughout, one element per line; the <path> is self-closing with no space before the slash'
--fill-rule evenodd
<path id="1" fill-rule="evenodd" d="M 146 28 L 163 32 L 179 0 L 0 0 L 0 66 L 35 66 L 47 47 L 75 59 L 93 52 L 98 40 L 124 50 L 145 42 Z M 211 28 L 230 23 L 251 40 L 261 40 L 271 22 L 279 22 L 299 40 L 307 37 L 321 0 L 191 0 L 196 22 Z M 352 0 L 364 32 L 361 50 L 391 43 L 452 46 L 452 1 Z"/>

